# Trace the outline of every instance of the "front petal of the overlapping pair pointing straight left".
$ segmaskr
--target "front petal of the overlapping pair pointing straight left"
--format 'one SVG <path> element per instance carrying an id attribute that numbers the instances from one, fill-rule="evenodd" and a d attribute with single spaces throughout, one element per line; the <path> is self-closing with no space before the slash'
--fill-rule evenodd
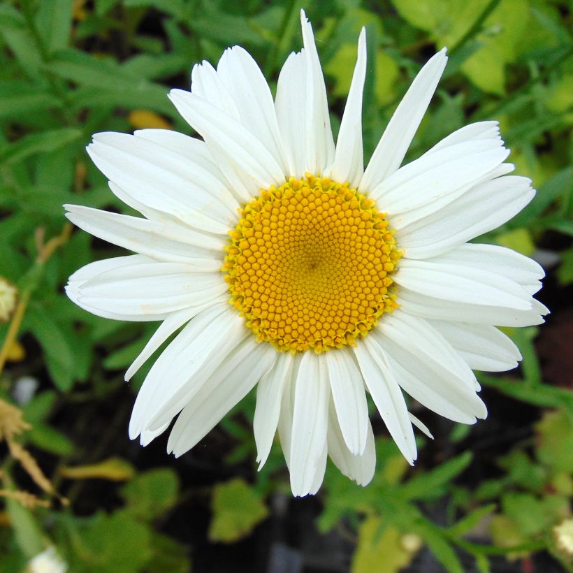
<path id="1" fill-rule="evenodd" d="M 79 300 L 106 312 L 165 314 L 212 304 L 227 288 L 221 273 L 194 273 L 182 263 L 151 261 L 93 277 L 80 286 Z"/>

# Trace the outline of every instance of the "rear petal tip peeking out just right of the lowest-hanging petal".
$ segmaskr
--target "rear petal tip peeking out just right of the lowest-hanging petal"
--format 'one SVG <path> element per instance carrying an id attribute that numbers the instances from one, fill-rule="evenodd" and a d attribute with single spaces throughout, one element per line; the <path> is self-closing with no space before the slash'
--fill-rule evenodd
<path id="1" fill-rule="evenodd" d="M 368 420 L 364 452 L 355 456 L 346 447 L 338 425 L 335 407 L 333 402 L 331 402 L 328 409 L 328 455 L 331 456 L 338 469 L 345 476 L 354 479 L 359 486 L 370 484 L 376 470 L 376 450 L 370 420 Z"/>

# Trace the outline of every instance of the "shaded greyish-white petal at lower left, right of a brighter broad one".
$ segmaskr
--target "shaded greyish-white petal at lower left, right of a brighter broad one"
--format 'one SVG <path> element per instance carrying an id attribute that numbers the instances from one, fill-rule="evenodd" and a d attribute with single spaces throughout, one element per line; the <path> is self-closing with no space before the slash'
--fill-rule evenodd
<path id="1" fill-rule="evenodd" d="M 261 376 L 273 367 L 277 351 L 247 338 L 226 357 L 177 416 L 167 450 L 179 457 L 207 435 Z"/>

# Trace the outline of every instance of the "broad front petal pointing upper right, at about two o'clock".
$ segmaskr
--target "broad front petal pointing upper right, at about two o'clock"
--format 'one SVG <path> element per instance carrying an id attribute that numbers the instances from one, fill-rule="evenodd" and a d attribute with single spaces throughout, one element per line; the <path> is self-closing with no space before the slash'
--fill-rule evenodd
<path id="1" fill-rule="evenodd" d="M 508 154 L 509 150 L 491 140 L 450 145 L 403 166 L 372 189 L 370 197 L 400 229 L 398 215 L 427 205 L 437 210 L 451 203 L 500 166 Z"/>

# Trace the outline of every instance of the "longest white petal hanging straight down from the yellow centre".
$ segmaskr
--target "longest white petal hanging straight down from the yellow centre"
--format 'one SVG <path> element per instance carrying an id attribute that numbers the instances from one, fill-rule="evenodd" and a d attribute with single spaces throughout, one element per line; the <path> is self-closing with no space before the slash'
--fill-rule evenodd
<path id="1" fill-rule="evenodd" d="M 296 377 L 289 463 L 291 489 L 296 496 L 312 491 L 324 459 L 330 389 L 323 359 L 305 352 Z"/>

